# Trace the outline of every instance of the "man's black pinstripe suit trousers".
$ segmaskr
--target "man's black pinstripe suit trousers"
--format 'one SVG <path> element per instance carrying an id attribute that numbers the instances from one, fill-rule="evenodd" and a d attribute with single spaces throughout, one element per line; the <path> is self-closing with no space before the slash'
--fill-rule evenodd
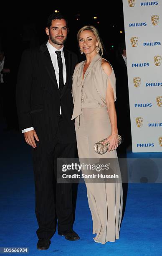
<path id="1" fill-rule="evenodd" d="M 75 157 L 76 135 L 60 117 L 55 138 L 48 142 L 39 139 L 32 149 L 37 236 L 51 238 L 56 231 L 56 219 L 59 231 L 72 228 L 72 184 L 57 183 L 57 158 Z"/>

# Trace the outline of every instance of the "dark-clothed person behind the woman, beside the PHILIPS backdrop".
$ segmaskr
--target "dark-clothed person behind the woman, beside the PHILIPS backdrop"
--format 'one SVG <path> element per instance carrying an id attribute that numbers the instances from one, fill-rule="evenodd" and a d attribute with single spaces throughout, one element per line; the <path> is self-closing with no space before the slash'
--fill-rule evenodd
<path id="1" fill-rule="evenodd" d="M 122 143 L 117 150 L 119 157 L 127 157 L 127 148 L 131 145 L 131 123 L 129 110 L 129 89 L 127 75 L 127 52 L 125 41 L 119 43 L 114 62 L 116 74 L 116 113 L 119 134 L 122 135 Z"/>

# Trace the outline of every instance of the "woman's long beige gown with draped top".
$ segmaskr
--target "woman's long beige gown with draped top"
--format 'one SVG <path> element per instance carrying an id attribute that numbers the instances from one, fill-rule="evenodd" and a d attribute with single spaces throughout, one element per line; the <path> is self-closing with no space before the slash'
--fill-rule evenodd
<path id="1" fill-rule="evenodd" d="M 76 139 L 79 159 L 100 159 L 109 162 L 116 159 L 116 150 L 99 155 L 94 151 L 94 143 L 111 134 L 111 123 L 106 106 L 106 88 L 110 86 L 115 92 L 115 74 L 107 76 L 101 67 L 102 58 L 98 54 L 91 61 L 84 74 L 85 61 L 82 61 L 73 74 L 73 116 L 75 118 Z M 95 242 L 105 244 L 119 239 L 122 218 L 122 181 L 119 163 L 115 166 L 120 182 L 88 183 L 87 197 L 93 220 Z M 82 170 L 82 173 L 85 171 Z"/>

